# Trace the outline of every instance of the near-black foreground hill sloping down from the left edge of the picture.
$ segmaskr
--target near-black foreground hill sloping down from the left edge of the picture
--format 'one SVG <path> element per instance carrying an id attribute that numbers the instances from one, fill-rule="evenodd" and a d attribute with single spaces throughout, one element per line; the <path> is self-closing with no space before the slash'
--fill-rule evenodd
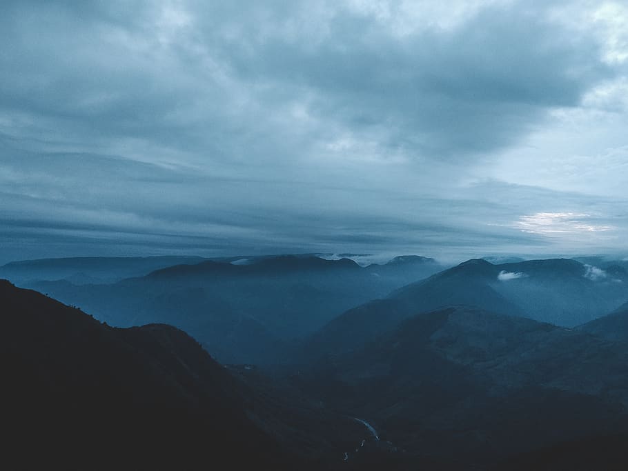
<path id="1" fill-rule="evenodd" d="M 5 469 L 295 469 L 184 332 L 117 329 L 0 281 Z"/>

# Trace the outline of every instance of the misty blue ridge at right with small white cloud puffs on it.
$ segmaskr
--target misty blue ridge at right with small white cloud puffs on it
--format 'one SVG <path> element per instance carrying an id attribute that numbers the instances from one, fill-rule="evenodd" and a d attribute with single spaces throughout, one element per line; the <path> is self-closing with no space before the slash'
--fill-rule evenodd
<path id="1" fill-rule="evenodd" d="M 628 281 L 628 279 L 627 279 Z M 493 265 L 472 259 L 336 317 L 311 337 L 310 352 L 341 352 L 373 341 L 400 321 L 449 305 L 573 327 L 628 299 L 623 279 L 569 259 Z"/>

